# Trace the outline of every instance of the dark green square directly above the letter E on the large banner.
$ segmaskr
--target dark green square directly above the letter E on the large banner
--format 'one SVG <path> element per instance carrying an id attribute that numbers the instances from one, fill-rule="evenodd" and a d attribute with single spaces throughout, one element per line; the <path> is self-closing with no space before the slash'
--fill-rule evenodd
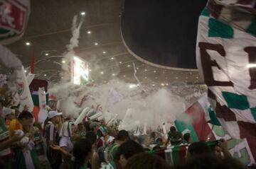
<path id="1" fill-rule="evenodd" d="M 230 25 L 222 23 L 215 18 L 210 18 L 208 21 L 209 37 L 221 37 L 226 39 L 232 39 L 234 36 L 234 30 Z"/>

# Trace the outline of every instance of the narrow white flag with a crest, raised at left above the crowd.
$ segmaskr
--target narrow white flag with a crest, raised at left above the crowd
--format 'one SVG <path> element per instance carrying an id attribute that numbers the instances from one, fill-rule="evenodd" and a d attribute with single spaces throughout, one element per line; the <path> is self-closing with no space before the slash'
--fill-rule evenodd
<path id="1" fill-rule="evenodd" d="M 21 101 L 21 107 L 28 108 L 29 112 L 33 111 L 33 100 L 31 98 L 31 93 L 28 88 L 28 81 L 25 76 L 24 68 L 22 66 L 21 70 L 16 70 L 16 89 Z"/>

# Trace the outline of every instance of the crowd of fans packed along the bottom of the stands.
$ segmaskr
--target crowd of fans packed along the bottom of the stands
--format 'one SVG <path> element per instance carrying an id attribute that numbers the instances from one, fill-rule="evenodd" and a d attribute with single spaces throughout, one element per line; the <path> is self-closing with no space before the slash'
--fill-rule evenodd
<path id="1" fill-rule="evenodd" d="M 145 137 L 118 130 L 104 119 L 75 125 L 57 111 L 49 111 L 42 125 L 26 107 L 18 112 L 3 102 L 0 113 L 0 168 L 246 168 L 232 158 L 225 140 L 213 146 L 191 143 L 190 134 L 183 135 L 174 126 L 164 139 L 156 131 Z M 166 163 L 163 150 L 180 144 L 189 145 L 186 159 L 178 165 Z"/>

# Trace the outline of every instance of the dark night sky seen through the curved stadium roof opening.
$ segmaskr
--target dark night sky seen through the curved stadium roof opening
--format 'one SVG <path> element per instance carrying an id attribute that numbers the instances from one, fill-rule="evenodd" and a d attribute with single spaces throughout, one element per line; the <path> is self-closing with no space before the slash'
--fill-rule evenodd
<path id="1" fill-rule="evenodd" d="M 196 69 L 198 16 L 206 0 L 127 0 L 122 34 L 142 59 L 178 68 Z"/>

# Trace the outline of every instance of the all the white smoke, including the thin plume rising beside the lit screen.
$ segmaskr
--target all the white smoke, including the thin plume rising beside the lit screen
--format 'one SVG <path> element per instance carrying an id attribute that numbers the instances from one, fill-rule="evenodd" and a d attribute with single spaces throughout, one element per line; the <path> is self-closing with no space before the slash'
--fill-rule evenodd
<path id="1" fill-rule="evenodd" d="M 65 116 L 78 117 L 85 107 L 96 107 L 100 104 L 105 119 L 110 120 L 117 115 L 117 118 L 122 120 L 119 129 L 131 130 L 143 127 L 144 124 L 148 128 L 156 129 L 164 122 L 166 127 L 169 127 L 178 115 L 184 112 L 186 101 L 167 88 L 151 90 L 147 87 L 146 91 L 142 91 L 144 86 L 125 83 L 117 78 L 96 86 L 77 86 L 70 83 L 70 58 L 75 55 L 74 47 L 78 47 L 81 25 L 82 21 L 78 23 L 78 17 L 75 16 L 73 37 L 70 39 L 70 45 L 67 45 L 68 52 L 64 54 L 67 64 L 63 64 L 63 81 L 49 88 L 49 93 L 56 95 L 60 100 L 60 110 Z M 93 61 L 95 60 L 89 62 L 100 70 L 101 66 L 97 65 L 97 61 Z M 86 100 L 81 104 L 82 98 Z"/>

